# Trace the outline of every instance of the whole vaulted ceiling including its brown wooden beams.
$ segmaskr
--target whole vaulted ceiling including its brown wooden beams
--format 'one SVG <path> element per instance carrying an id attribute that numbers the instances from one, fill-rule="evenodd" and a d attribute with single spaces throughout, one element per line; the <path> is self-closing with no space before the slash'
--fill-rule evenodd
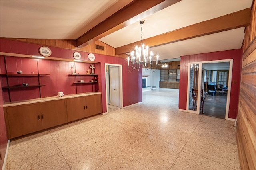
<path id="1" fill-rule="evenodd" d="M 143 42 L 170 61 L 238 49 L 252 0 L 1 0 L 0 37 L 102 41 L 116 54 Z"/>

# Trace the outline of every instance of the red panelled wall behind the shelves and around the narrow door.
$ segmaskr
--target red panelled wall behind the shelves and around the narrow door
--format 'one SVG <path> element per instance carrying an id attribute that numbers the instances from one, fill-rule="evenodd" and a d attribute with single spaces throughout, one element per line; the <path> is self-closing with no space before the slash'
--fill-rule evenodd
<path id="1" fill-rule="evenodd" d="M 42 45 L 26 43 L 26 42 L 19 42 L 19 41 L 12 41 L 8 39 L 0 39 L 0 51 L 6 53 L 17 53 L 17 54 L 26 54 L 26 55 L 38 55 L 39 48 Z M 48 46 L 51 51 L 51 57 L 58 57 L 62 59 L 74 59 L 73 53 L 76 50 L 70 49 L 62 49 L 58 47 L 50 47 Z M 88 61 L 88 54 L 84 51 L 79 51 L 81 54 L 81 59 Z M 105 81 L 105 63 L 109 64 L 120 64 L 123 67 L 123 106 L 128 106 L 131 104 L 135 104 L 138 102 L 142 102 L 142 70 L 139 72 L 136 70 L 134 72 L 128 72 L 127 68 L 127 60 L 120 58 L 120 57 L 113 57 L 108 55 L 100 55 L 94 54 L 95 61 L 99 62 L 95 64 L 95 74 L 98 74 L 98 85 L 95 85 L 94 88 L 96 91 L 102 93 L 102 112 L 106 112 L 106 81 Z M 4 57 L 0 57 L 0 66 L 1 66 L 1 73 L 6 73 L 5 66 L 4 66 Z M 48 96 L 56 96 L 58 91 L 62 91 L 64 94 L 76 94 L 76 88 L 73 84 L 74 76 L 68 76 L 71 74 L 71 68 L 73 64 L 75 64 L 76 72 L 80 74 L 86 74 L 86 70 L 89 69 L 89 63 L 74 63 L 69 61 L 54 61 L 54 60 L 46 60 L 46 59 L 32 59 L 32 58 L 23 58 L 23 57 L 6 57 L 6 64 L 7 64 L 7 72 L 8 73 L 16 73 L 17 70 L 22 70 L 23 73 L 30 74 L 31 72 L 40 73 L 40 74 L 50 74 L 49 76 L 40 76 L 40 84 L 45 84 L 46 86 L 42 86 L 41 96 L 48 97 Z M 38 70 L 37 70 L 38 64 Z M 2 77 L 4 78 L 4 77 Z M 36 77 L 33 77 L 36 78 Z M 87 77 L 80 77 L 81 79 L 86 80 Z M 10 78 L 10 82 L 18 84 L 22 84 L 23 82 L 34 82 L 32 78 L 22 78 L 22 77 L 12 77 Z M 3 82 L 1 82 L 2 86 L 6 86 Z M 13 84 L 15 85 L 15 84 Z M 91 84 L 90 87 L 80 86 L 78 85 L 78 92 L 87 92 L 91 91 Z M 94 91 L 94 90 L 93 90 Z M 1 90 L 1 104 L 4 101 L 7 102 L 8 93 L 6 90 Z M 2 98 L 3 97 L 3 98 Z M 30 88 L 30 90 L 18 88 L 17 90 L 12 90 L 11 92 L 11 100 L 24 100 L 30 98 L 38 98 L 39 97 L 39 90 L 38 88 Z M 0 123 L 1 123 L 1 153 L 5 153 L 3 150 L 6 149 L 6 127 L 4 122 L 4 114 L 2 105 L 0 107 Z M 3 143 L 2 143 L 3 141 Z M 2 165 L 2 161 L 1 161 Z"/>

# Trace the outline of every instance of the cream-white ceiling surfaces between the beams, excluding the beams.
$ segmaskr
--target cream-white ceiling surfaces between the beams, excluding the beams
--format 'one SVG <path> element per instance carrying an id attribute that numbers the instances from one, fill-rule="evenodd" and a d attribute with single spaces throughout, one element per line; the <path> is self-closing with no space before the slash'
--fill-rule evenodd
<path id="1" fill-rule="evenodd" d="M 132 0 L 0 0 L 0 37 L 77 39 Z M 143 39 L 250 8 L 252 0 L 182 0 L 143 18 Z M 140 41 L 134 21 L 99 39 L 116 48 Z M 153 47 L 160 60 L 241 48 L 244 28 Z"/>

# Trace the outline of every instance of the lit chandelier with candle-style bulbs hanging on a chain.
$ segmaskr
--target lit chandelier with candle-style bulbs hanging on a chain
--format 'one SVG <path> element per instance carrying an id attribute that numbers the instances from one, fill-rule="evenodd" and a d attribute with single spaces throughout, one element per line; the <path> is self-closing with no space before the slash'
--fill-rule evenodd
<path id="1" fill-rule="evenodd" d="M 150 51 L 150 49 L 148 48 L 148 46 L 144 45 L 142 43 L 142 24 L 144 23 L 144 21 L 140 21 L 141 24 L 141 45 L 140 46 L 136 46 L 134 50 L 131 51 L 130 53 L 130 57 L 127 58 L 128 60 L 128 71 L 132 72 L 133 70 L 140 70 L 140 68 L 144 69 L 144 72 L 147 70 L 152 70 L 153 67 L 153 52 Z M 158 65 L 158 58 L 159 56 L 156 55 L 156 66 Z M 132 70 L 130 70 L 130 67 L 132 68 Z M 156 71 L 152 70 L 152 71 Z"/>

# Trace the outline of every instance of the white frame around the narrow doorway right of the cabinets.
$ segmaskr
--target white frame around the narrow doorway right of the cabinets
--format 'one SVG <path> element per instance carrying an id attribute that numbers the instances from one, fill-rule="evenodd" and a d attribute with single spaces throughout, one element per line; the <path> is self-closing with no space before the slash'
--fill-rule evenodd
<path id="1" fill-rule="evenodd" d="M 120 87 L 120 94 L 119 94 L 119 98 L 120 98 L 120 109 L 123 109 L 123 65 L 120 64 L 110 64 L 110 63 L 105 63 L 105 90 L 106 90 L 106 104 L 108 105 L 108 95 L 107 95 L 107 91 L 108 91 L 108 86 L 107 86 L 107 66 L 117 66 L 119 67 L 119 87 Z M 107 107 L 107 113 L 108 113 L 108 106 Z"/>

